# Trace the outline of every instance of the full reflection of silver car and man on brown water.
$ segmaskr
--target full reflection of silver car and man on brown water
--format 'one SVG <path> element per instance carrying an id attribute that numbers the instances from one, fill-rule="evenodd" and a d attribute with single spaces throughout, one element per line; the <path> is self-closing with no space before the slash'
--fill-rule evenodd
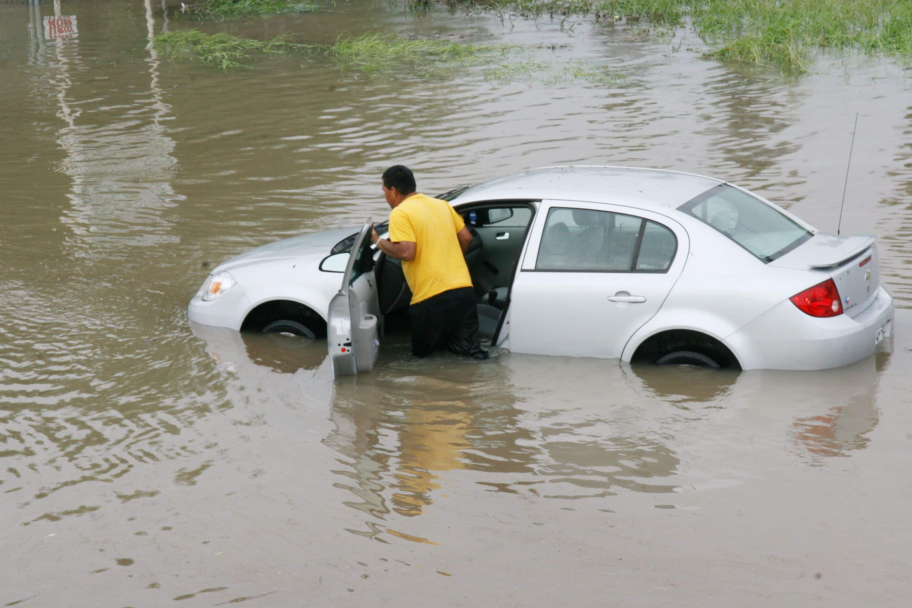
<path id="1" fill-rule="evenodd" d="M 202 326 L 194 333 L 243 386 L 265 391 L 264 402 L 294 404 L 307 376 L 328 377 L 320 341 Z M 825 464 L 868 445 L 888 362 L 881 353 L 838 370 L 741 373 L 504 354 L 486 364 L 446 355 L 418 362 L 401 337 L 384 344 L 374 372 L 327 386 L 333 430 L 324 440 L 341 465 L 332 486 L 363 516 L 362 527 L 346 530 L 384 542 L 386 532 L 437 542 L 410 534 L 407 519 L 436 512 L 466 483 L 502 497 L 503 508 L 511 496 L 690 492 L 718 483 L 711 473 L 689 478 L 693 450 L 707 441 L 781 445 Z"/>

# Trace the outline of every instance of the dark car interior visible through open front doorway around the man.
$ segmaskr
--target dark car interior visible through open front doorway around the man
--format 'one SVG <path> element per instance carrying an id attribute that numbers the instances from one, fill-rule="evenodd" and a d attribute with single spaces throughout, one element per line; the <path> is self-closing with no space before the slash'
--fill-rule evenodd
<path id="1" fill-rule="evenodd" d="M 497 201 L 461 208 L 460 213 L 472 232 L 465 262 L 478 302 L 479 334 L 491 338 L 509 302 L 510 286 L 534 207 L 528 201 Z M 408 324 L 411 290 L 402 273 L 402 263 L 381 252 L 374 273 L 380 312 L 385 316 L 388 330 Z"/>

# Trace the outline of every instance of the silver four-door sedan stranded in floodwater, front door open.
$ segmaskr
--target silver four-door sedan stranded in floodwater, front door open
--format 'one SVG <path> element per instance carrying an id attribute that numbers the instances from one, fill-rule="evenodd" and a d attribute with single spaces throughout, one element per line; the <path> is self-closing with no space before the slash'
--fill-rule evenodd
<path id="1" fill-rule="evenodd" d="M 823 369 L 891 336 L 875 237 L 817 232 L 725 181 L 547 167 L 441 198 L 474 237 L 465 257 L 482 335 L 514 353 Z M 334 374 L 368 371 L 384 325 L 402 327 L 411 298 L 369 228 L 285 239 L 221 264 L 190 319 L 326 335 Z"/>

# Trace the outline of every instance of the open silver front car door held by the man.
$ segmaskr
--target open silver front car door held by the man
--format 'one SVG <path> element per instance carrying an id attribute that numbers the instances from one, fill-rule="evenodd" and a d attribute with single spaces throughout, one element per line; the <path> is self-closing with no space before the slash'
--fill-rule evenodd
<path id="1" fill-rule="evenodd" d="M 333 377 L 370 371 L 379 354 L 377 279 L 370 249 L 368 220 L 358 232 L 348 256 L 342 287 L 329 301 L 326 343 Z"/>

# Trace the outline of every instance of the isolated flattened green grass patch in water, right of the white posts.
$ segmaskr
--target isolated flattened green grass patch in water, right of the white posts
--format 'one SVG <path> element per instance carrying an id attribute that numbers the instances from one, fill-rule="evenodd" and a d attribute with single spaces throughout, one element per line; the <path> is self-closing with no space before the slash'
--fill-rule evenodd
<path id="1" fill-rule="evenodd" d="M 230 34 L 203 34 L 196 29 L 165 32 L 155 36 L 152 43 L 159 51 L 170 54 L 172 59 L 192 57 L 223 70 L 247 67 L 238 60 L 249 57 L 251 51 L 276 55 L 311 48 L 289 42 L 287 35 L 275 36 L 271 40 L 254 40 Z"/>

